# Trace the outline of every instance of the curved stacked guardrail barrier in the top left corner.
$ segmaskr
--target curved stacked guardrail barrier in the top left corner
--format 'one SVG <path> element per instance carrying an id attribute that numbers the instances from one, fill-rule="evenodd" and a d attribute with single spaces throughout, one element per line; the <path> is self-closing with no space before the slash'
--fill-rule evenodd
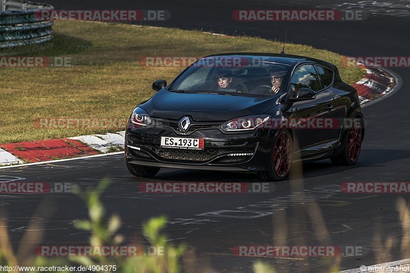
<path id="1" fill-rule="evenodd" d="M 52 10 L 48 4 L 0 0 L 0 49 L 51 41 L 54 22 L 41 14 Z"/>

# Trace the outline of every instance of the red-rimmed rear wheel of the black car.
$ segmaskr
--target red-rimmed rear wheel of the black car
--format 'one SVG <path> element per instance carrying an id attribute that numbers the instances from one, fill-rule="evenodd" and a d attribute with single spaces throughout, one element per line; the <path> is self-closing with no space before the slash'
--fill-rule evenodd
<path id="1" fill-rule="evenodd" d="M 355 165 L 359 159 L 363 142 L 363 125 L 361 119 L 354 119 L 352 127 L 347 129 L 342 138 L 342 152 L 331 157 L 335 165 L 351 166 Z"/>

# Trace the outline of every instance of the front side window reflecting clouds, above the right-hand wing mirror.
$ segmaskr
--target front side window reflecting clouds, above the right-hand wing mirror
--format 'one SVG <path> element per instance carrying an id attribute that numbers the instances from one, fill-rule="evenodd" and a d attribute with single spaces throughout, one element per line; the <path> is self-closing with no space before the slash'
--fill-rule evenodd
<path id="1" fill-rule="evenodd" d="M 302 87 L 310 88 L 315 92 L 323 89 L 319 76 L 316 74 L 315 67 L 312 64 L 304 64 L 296 69 L 292 76 L 291 86 L 295 91 Z"/>

